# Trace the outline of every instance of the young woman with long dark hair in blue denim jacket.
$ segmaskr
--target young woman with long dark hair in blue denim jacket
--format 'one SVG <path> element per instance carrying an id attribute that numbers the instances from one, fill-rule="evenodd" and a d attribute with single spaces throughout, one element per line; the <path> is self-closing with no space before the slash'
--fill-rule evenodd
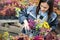
<path id="1" fill-rule="evenodd" d="M 47 21 L 52 29 L 57 27 L 57 14 L 53 12 L 54 0 L 40 0 L 37 7 L 31 6 L 20 13 L 19 21 L 30 30 L 28 19 L 40 19 L 40 22 Z"/>

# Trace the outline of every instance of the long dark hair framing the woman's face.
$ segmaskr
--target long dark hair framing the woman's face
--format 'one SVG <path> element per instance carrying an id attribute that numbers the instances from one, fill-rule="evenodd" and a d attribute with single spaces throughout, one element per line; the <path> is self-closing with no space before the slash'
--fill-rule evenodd
<path id="1" fill-rule="evenodd" d="M 50 14 L 53 12 L 54 0 L 40 0 L 38 6 L 37 6 L 37 8 L 36 8 L 36 13 L 37 13 L 37 14 L 39 13 L 40 4 L 41 4 L 42 2 L 47 2 L 47 4 L 49 5 L 49 9 L 48 9 L 48 17 L 49 17 Z"/>

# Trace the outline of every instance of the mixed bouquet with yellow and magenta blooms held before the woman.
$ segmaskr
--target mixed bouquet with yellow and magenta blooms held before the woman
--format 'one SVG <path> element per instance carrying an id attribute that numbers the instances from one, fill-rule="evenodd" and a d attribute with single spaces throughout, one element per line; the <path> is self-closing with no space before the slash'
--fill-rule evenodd
<path id="1" fill-rule="evenodd" d="M 46 36 L 50 31 L 51 31 L 51 28 L 48 24 L 48 22 L 44 21 L 44 22 L 40 22 L 40 20 L 32 20 L 32 19 L 29 19 L 28 20 L 28 23 L 29 23 L 29 27 L 31 28 L 31 30 L 33 30 L 33 35 L 38 35 L 38 34 L 43 34 L 44 36 Z"/>

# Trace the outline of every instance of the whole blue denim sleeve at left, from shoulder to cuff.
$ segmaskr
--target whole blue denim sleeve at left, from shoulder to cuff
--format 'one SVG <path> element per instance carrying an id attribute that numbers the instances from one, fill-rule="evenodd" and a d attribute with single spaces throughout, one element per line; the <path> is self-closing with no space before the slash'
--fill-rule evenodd
<path id="1" fill-rule="evenodd" d="M 19 22 L 24 23 L 24 20 L 28 19 L 29 12 L 35 10 L 35 8 L 35 6 L 29 6 L 28 8 L 22 10 L 19 15 Z"/>

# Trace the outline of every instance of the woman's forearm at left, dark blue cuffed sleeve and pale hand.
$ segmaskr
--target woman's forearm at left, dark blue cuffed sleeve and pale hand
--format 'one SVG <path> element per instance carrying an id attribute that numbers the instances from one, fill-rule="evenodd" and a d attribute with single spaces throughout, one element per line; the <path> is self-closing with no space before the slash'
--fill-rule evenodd
<path id="1" fill-rule="evenodd" d="M 23 24 L 23 26 L 26 30 L 29 30 L 30 28 L 29 28 L 27 18 L 28 18 L 27 9 L 24 9 L 22 12 L 20 12 L 19 22 L 21 24 Z"/>

